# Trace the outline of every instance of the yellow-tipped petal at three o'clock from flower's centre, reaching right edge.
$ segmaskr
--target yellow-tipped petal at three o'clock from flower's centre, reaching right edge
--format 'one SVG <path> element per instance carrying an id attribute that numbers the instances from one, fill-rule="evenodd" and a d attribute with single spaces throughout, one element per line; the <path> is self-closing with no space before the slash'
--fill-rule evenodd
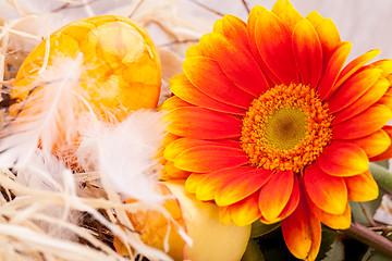
<path id="1" fill-rule="evenodd" d="M 392 111 L 375 104 L 364 112 L 332 126 L 334 139 L 356 139 L 380 129 L 392 117 Z"/>

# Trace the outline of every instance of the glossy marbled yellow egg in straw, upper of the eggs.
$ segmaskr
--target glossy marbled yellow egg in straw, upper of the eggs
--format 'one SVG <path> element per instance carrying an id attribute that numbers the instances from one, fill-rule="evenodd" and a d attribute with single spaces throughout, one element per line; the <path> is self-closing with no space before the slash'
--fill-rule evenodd
<path id="1" fill-rule="evenodd" d="M 48 44 L 49 55 L 46 57 Z M 40 42 L 23 62 L 11 97 L 22 101 L 29 95 L 46 59 L 50 66 L 56 59 L 76 59 L 81 53 L 82 89 L 78 95 L 94 107 L 97 115 L 103 116 L 108 110 L 156 108 L 161 84 L 158 51 L 145 29 L 115 15 L 76 21 L 54 32 L 49 42 Z M 34 92 L 40 95 L 39 91 L 45 88 Z M 17 112 L 10 111 L 11 114 Z M 118 120 L 125 115 L 123 113 Z"/>

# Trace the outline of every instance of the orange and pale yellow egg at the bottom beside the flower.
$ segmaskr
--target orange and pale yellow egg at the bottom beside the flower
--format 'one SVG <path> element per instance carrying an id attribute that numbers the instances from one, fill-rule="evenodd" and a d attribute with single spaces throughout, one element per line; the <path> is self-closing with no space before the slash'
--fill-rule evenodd
<path id="1" fill-rule="evenodd" d="M 183 233 L 172 221 L 157 210 L 128 213 L 130 221 L 143 243 L 166 250 L 175 261 L 236 261 L 245 252 L 250 236 L 250 225 L 224 225 L 219 220 L 219 208 L 211 202 L 203 202 L 185 191 L 184 181 L 169 181 L 158 184 L 161 195 L 172 196 L 162 207 L 181 225 L 192 240 L 185 241 Z M 173 198 L 174 197 L 174 198 Z M 127 200 L 135 202 L 135 200 Z M 170 229 L 168 232 L 168 229 Z M 122 256 L 130 256 L 120 238 L 114 237 L 114 248 Z"/>

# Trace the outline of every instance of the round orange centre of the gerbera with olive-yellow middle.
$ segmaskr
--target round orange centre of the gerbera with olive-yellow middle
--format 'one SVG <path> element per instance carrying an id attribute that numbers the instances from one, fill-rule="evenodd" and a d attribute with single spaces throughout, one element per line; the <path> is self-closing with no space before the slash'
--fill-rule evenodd
<path id="1" fill-rule="evenodd" d="M 329 144 L 331 122 L 316 90 L 279 85 L 252 102 L 243 119 L 242 148 L 256 167 L 301 172 Z"/>

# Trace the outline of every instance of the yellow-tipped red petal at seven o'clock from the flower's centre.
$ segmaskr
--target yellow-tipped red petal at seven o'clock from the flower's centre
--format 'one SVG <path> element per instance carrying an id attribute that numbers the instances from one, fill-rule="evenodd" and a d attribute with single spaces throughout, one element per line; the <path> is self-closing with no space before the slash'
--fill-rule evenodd
<path id="1" fill-rule="evenodd" d="M 238 202 L 259 190 L 271 175 L 272 171 L 265 169 L 238 172 L 235 177 L 223 182 L 216 192 L 215 200 L 218 206 L 229 206 Z"/>

